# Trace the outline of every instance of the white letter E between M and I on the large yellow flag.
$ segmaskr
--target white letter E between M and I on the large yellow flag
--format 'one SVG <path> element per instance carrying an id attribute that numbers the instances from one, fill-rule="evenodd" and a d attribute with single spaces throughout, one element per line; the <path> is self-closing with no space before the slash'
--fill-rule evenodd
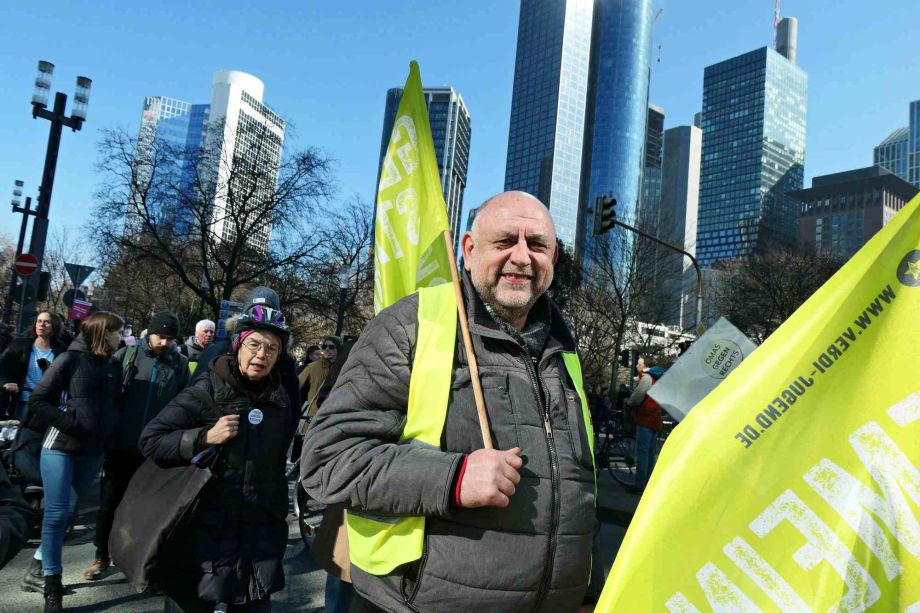
<path id="1" fill-rule="evenodd" d="M 863 611 L 880 597 L 878 584 L 863 568 L 839 536 L 812 511 L 792 490 L 786 490 L 751 522 L 751 530 L 763 538 L 783 520 L 788 521 L 808 541 L 792 558 L 805 570 L 827 562 L 837 571 L 847 587 L 840 599 L 845 611 Z"/>

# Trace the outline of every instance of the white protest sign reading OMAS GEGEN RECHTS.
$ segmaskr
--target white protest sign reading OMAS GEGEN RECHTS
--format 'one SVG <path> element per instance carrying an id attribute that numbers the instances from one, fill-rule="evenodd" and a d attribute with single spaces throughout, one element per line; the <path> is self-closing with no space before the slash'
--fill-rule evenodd
<path id="1" fill-rule="evenodd" d="M 681 421 L 756 348 L 751 339 L 722 317 L 696 339 L 648 394 L 671 417 Z"/>

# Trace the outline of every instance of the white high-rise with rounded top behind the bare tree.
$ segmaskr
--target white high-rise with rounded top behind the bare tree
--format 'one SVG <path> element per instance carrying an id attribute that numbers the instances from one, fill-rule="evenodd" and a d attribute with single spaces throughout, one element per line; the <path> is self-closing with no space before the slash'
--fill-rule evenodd
<path id="1" fill-rule="evenodd" d="M 218 191 L 214 198 L 213 232 L 226 240 L 236 238 L 236 230 L 227 215 L 226 198 L 230 189 L 242 188 L 233 181 L 255 179 L 256 185 L 246 185 L 253 190 L 253 198 L 268 199 L 278 180 L 281 164 L 281 146 L 284 143 L 284 120 L 262 103 L 265 85 L 245 72 L 237 70 L 214 73 L 211 85 L 212 125 L 223 125 L 222 133 L 208 136 L 222 143 L 216 170 Z M 243 173 L 234 172 L 242 164 Z M 251 223 L 252 220 L 247 220 Z M 251 247 L 265 252 L 271 235 L 272 219 L 258 224 L 257 230 L 247 239 Z"/>

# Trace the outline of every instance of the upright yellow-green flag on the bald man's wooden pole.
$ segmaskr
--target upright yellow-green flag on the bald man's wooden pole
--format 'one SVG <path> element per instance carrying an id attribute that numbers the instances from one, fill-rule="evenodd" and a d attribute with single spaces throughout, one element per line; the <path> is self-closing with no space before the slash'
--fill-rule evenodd
<path id="1" fill-rule="evenodd" d="M 377 188 L 374 312 L 420 287 L 451 280 L 441 192 L 418 64 L 409 64 Z"/>

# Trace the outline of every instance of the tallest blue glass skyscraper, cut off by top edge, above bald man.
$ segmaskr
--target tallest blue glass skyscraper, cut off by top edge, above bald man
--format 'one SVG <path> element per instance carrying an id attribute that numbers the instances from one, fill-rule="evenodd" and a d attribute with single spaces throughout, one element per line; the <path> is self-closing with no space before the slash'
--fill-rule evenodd
<path id="1" fill-rule="evenodd" d="M 521 0 L 505 189 L 540 198 L 576 254 L 596 196 L 615 197 L 629 220 L 638 212 L 652 9 L 652 0 Z"/>

